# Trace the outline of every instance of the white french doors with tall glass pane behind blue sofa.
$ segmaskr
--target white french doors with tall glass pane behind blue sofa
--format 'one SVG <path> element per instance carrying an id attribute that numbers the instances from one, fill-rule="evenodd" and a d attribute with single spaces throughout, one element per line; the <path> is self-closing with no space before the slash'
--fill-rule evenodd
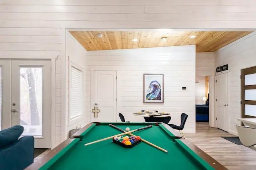
<path id="1" fill-rule="evenodd" d="M 51 61 L 0 60 L 2 129 L 22 125 L 35 148 L 51 147 Z"/>

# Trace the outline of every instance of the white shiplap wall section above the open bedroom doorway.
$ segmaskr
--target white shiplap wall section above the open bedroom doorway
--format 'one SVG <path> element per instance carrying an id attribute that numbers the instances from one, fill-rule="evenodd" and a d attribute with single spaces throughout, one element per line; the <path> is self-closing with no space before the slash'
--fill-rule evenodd
<path id="1" fill-rule="evenodd" d="M 214 52 L 196 53 L 196 76 L 210 76 L 214 73 Z"/>

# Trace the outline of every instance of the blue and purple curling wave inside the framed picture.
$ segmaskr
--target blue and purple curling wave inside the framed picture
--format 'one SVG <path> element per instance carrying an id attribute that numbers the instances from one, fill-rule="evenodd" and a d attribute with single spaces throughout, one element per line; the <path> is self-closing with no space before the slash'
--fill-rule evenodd
<path id="1" fill-rule="evenodd" d="M 161 85 L 158 81 L 150 82 L 146 94 L 146 100 L 161 100 Z"/>

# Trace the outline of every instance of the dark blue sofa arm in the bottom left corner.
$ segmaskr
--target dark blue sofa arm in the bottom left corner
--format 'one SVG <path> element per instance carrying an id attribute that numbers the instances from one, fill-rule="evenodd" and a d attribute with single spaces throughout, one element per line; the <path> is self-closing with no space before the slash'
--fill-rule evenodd
<path id="1" fill-rule="evenodd" d="M 34 162 L 34 137 L 24 136 L 0 149 L 0 170 L 23 170 Z"/>

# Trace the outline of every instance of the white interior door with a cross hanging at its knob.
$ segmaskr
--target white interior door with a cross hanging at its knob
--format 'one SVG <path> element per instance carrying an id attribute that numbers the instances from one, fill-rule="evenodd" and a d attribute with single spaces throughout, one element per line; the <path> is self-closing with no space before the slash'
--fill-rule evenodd
<path id="1" fill-rule="evenodd" d="M 116 71 L 94 71 L 94 104 L 98 104 L 98 117 L 92 121 L 116 121 Z M 92 106 L 93 108 L 93 106 Z"/>

